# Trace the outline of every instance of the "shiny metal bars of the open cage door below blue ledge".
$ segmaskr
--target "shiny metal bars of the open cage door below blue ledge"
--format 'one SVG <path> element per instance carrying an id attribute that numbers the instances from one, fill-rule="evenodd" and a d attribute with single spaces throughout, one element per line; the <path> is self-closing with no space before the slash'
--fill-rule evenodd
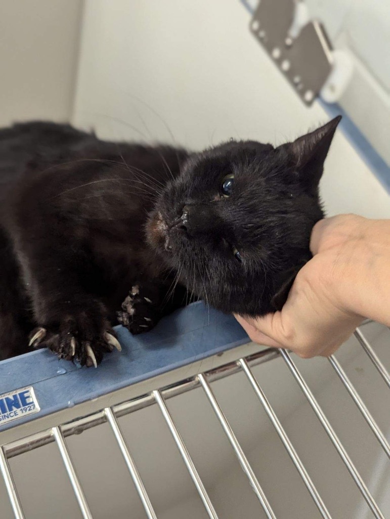
<path id="1" fill-rule="evenodd" d="M 367 338 L 362 332 L 362 329 L 356 330 L 355 337 L 362 346 L 364 352 L 367 354 L 368 358 L 370 359 L 376 370 L 378 371 L 379 375 L 382 377 L 383 382 L 387 385 L 387 388 L 390 389 L 390 375 L 386 370 L 384 364 L 378 358 L 372 346 L 369 344 Z M 18 489 L 13 479 L 8 460 L 12 457 L 18 456 L 32 449 L 39 448 L 48 443 L 55 442 L 61 455 L 62 461 L 64 463 L 65 469 L 67 471 L 67 475 L 73 488 L 75 497 L 77 499 L 82 517 L 85 519 L 92 519 L 93 515 L 91 513 L 89 503 L 85 497 L 83 487 L 77 475 L 75 465 L 71 459 L 66 438 L 67 436 L 78 434 L 83 430 L 96 427 L 97 425 L 103 423 L 107 423 L 118 444 L 118 448 L 120 449 L 120 452 L 126 463 L 128 472 L 130 473 L 133 479 L 135 488 L 142 502 L 142 506 L 145 509 L 146 516 L 149 519 L 156 519 L 157 515 L 153 508 L 153 503 L 151 502 L 151 499 L 148 495 L 148 491 L 142 482 L 140 473 L 134 461 L 134 457 L 131 453 L 131 450 L 128 447 L 128 444 L 124 438 L 121 426 L 118 421 L 118 418 L 121 416 L 127 415 L 129 413 L 137 411 L 138 409 L 145 408 L 147 406 L 154 404 L 160 410 L 161 415 L 163 416 L 166 425 L 168 426 L 170 434 L 174 439 L 176 446 L 180 452 L 180 455 L 185 463 L 185 467 L 191 476 L 191 479 L 196 487 L 201 501 L 203 502 L 203 506 L 207 512 L 207 515 L 210 518 L 216 519 L 218 515 L 215 511 L 213 503 L 207 493 L 203 481 L 199 476 L 194 461 L 183 441 L 180 431 L 177 425 L 175 424 L 174 418 L 172 417 L 172 414 L 170 413 L 168 406 L 166 404 L 167 399 L 174 397 L 175 395 L 191 391 L 194 388 L 200 387 L 204 391 L 204 394 L 206 395 L 207 400 L 210 403 L 216 418 L 218 418 L 218 421 L 220 422 L 220 425 L 222 426 L 224 433 L 226 434 L 226 437 L 240 462 L 241 468 L 248 478 L 249 484 L 251 485 L 258 501 L 261 503 L 266 517 L 268 517 L 269 519 L 276 519 L 277 515 L 272 510 L 271 504 L 262 486 L 259 484 L 254 470 L 252 469 L 248 461 L 248 458 L 245 456 L 244 450 L 241 447 L 239 441 L 237 440 L 235 432 L 233 431 L 233 428 L 230 426 L 229 421 L 227 420 L 224 411 L 221 408 L 220 403 L 216 399 L 213 389 L 211 387 L 211 383 L 213 381 L 224 377 L 228 377 L 233 373 L 241 372 L 245 375 L 245 377 L 247 377 L 252 390 L 254 391 L 257 399 L 259 400 L 259 403 L 263 406 L 264 411 L 267 414 L 273 428 L 275 428 L 275 431 L 278 434 L 279 439 L 281 440 L 284 448 L 286 449 L 286 452 L 290 456 L 297 472 L 299 473 L 299 476 L 301 477 L 302 482 L 306 486 L 307 491 L 311 496 L 320 515 L 326 519 L 330 519 L 331 515 L 326 507 L 326 503 L 324 503 L 323 499 L 321 498 L 321 495 L 317 490 L 316 486 L 314 485 L 308 473 L 308 470 L 305 468 L 304 463 L 298 456 L 294 448 L 294 445 L 288 437 L 285 429 L 283 428 L 281 421 L 279 420 L 275 410 L 272 408 L 271 404 L 269 403 L 266 397 L 264 390 L 259 385 L 258 381 L 256 380 L 256 377 L 253 374 L 253 366 L 267 362 L 271 359 L 275 359 L 276 357 L 281 357 L 284 360 L 286 366 L 288 367 L 288 370 L 290 370 L 292 376 L 294 377 L 296 384 L 299 386 L 300 390 L 305 395 L 317 419 L 320 421 L 322 427 L 328 435 L 329 440 L 333 444 L 346 469 L 348 470 L 350 476 L 352 477 L 353 482 L 355 483 L 360 494 L 362 494 L 364 500 L 366 501 L 367 506 L 372 512 L 372 515 L 377 519 L 385 519 L 383 512 L 380 510 L 377 502 L 375 502 L 375 499 L 373 498 L 362 476 L 359 474 L 348 452 L 346 452 L 345 447 L 341 443 L 334 428 L 331 426 L 319 402 L 314 397 L 304 376 L 302 376 L 300 370 L 298 369 L 296 362 L 293 361 L 291 354 L 284 350 L 274 349 L 266 349 L 261 352 L 252 354 L 249 357 L 240 358 L 235 362 L 230 362 L 228 364 L 215 368 L 214 370 L 199 373 L 190 379 L 181 380 L 174 385 L 163 387 L 160 389 L 155 389 L 148 394 L 141 395 L 138 398 L 128 400 L 126 402 L 122 402 L 111 407 L 106 407 L 101 411 L 93 413 L 89 416 L 80 417 L 74 421 L 57 425 L 47 430 L 42 430 L 41 432 L 27 436 L 22 440 L 2 445 L 0 448 L 0 471 L 6 484 L 7 493 L 13 514 L 17 519 L 23 519 L 26 517 L 23 512 L 22 504 L 18 496 Z M 351 380 L 346 375 L 340 362 L 336 359 L 335 356 L 330 357 L 328 361 L 330 365 L 333 367 L 337 376 L 340 378 L 345 390 L 349 393 L 353 402 L 359 409 L 360 413 L 363 415 L 369 428 L 372 431 L 372 434 L 379 442 L 385 455 L 387 456 L 387 458 L 390 458 L 390 445 L 386 440 L 384 433 L 381 431 L 377 422 L 375 422 L 374 418 L 372 417 L 369 409 L 363 402 L 362 398 L 360 398 L 357 390 L 353 386 Z M 26 517 L 26 519 L 28 519 L 28 517 Z"/>

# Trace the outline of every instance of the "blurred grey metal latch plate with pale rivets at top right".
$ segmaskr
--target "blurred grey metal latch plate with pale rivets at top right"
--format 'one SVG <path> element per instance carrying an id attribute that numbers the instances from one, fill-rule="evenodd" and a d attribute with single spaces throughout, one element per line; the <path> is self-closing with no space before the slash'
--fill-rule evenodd
<path id="1" fill-rule="evenodd" d="M 260 0 L 250 30 L 310 106 L 332 70 L 333 55 L 322 24 L 307 21 L 303 6 L 299 0 Z"/>

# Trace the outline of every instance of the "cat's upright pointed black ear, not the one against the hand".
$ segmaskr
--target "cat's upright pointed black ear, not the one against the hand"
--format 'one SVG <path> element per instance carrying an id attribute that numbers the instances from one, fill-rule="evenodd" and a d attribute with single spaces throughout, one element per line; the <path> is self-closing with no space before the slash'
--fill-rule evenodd
<path id="1" fill-rule="evenodd" d="M 330 143 L 340 119 L 341 115 L 294 142 L 279 146 L 288 154 L 288 160 L 309 189 L 316 190 L 319 185 Z"/>

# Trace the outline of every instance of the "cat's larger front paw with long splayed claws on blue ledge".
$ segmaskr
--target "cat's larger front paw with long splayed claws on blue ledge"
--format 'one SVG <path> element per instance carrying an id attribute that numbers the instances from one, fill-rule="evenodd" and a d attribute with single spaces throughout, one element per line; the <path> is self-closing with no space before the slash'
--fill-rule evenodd
<path id="1" fill-rule="evenodd" d="M 103 355 L 121 345 L 106 320 L 97 323 L 84 315 L 67 316 L 58 327 L 38 326 L 29 336 L 29 346 L 48 348 L 60 359 L 79 362 L 82 366 L 97 367 Z"/>

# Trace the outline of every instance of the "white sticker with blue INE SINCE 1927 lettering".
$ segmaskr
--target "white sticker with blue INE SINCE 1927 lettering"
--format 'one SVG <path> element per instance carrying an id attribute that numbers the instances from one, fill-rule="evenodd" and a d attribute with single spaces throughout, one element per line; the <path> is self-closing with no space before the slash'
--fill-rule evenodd
<path id="1" fill-rule="evenodd" d="M 0 394 L 0 427 L 38 411 L 40 407 L 32 386 Z"/>

